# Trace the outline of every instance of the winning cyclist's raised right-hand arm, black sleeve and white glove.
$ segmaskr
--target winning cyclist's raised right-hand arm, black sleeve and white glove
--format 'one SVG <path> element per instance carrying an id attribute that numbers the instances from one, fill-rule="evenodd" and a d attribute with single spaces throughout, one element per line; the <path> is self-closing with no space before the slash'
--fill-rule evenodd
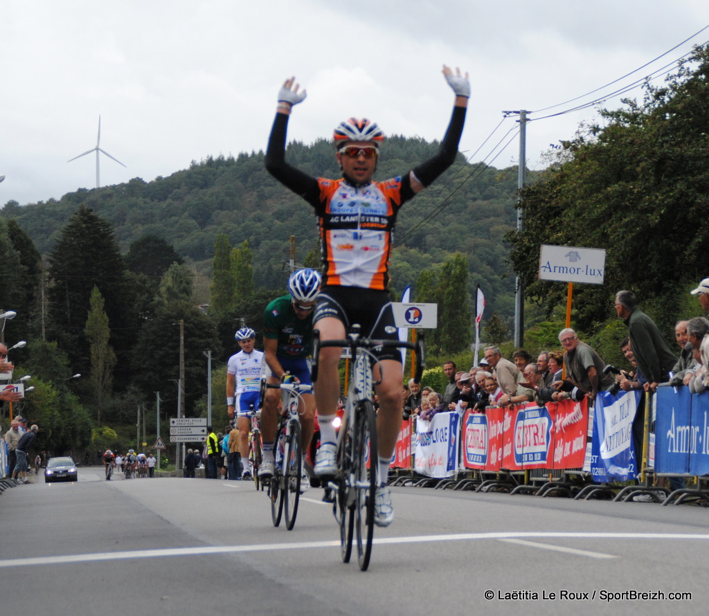
<path id="1" fill-rule="evenodd" d="M 453 164 L 458 153 L 460 136 L 463 133 L 465 114 L 470 98 L 468 74 L 462 75 L 460 69 L 455 69 L 453 72 L 452 69 L 443 65 L 443 76 L 455 93 L 453 114 L 437 155 L 419 164 L 409 174 L 411 190 L 414 193 L 423 191 L 426 186 L 430 186 L 440 174 Z"/>

